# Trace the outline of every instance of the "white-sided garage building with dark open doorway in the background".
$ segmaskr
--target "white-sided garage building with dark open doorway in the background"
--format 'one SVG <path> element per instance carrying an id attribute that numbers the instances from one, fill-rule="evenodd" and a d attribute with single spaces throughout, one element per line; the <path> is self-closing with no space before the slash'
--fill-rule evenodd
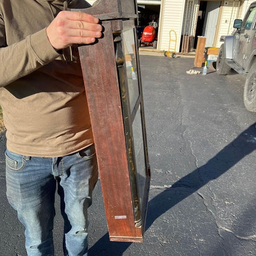
<path id="1" fill-rule="evenodd" d="M 95 1 L 88 2 L 93 4 Z M 198 36 L 206 36 L 206 47 L 219 47 L 220 36 L 233 31 L 234 19 L 244 18 L 252 2 L 254 1 L 137 0 L 138 6 L 158 12 L 158 50 L 169 49 L 169 31 L 174 30 L 177 33 L 176 52 L 193 50 Z M 171 47 L 174 47 L 172 44 L 174 42 L 171 42 Z"/>

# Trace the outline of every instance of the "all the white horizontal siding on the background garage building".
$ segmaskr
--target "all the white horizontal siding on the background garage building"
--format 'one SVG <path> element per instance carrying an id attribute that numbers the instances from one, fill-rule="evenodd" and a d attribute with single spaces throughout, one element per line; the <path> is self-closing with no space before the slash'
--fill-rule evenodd
<path id="1" fill-rule="evenodd" d="M 87 0 L 90 4 L 93 4 L 96 0 Z M 161 17 L 159 21 L 159 39 L 158 39 L 158 49 L 168 50 L 169 49 L 169 31 L 175 30 L 177 33 L 177 47 L 176 51 L 180 49 L 180 39 L 184 31 L 184 21 L 186 14 L 185 2 L 191 0 L 161 0 Z M 191 20 L 190 15 L 188 15 L 185 25 L 185 32 L 188 34 L 195 33 L 196 20 L 198 17 L 199 1 L 194 0 L 193 7 L 193 19 Z M 207 1 L 207 0 L 206 0 Z M 212 0 L 213 1 L 213 0 Z M 215 0 L 214 0 L 215 1 Z M 216 0 L 217 1 L 217 0 Z M 218 0 L 220 1 L 220 0 Z M 217 45 L 220 47 L 220 36 L 225 34 L 231 34 L 233 31 L 233 22 L 235 18 L 244 18 L 246 11 L 250 4 L 255 0 L 229 0 L 228 6 L 222 6 L 222 16 L 220 17 L 220 27 L 217 35 Z M 142 2 L 160 2 L 160 0 L 138 0 L 138 4 Z M 222 1 L 223 4 L 224 1 Z M 191 22 L 192 21 L 192 22 Z M 190 24 L 190 22 L 192 24 Z M 188 25 L 190 24 L 190 25 Z M 188 29 L 190 28 L 190 29 Z M 174 39 L 172 37 L 172 39 Z M 171 48 L 174 48 L 174 42 L 171 42 Z"/>

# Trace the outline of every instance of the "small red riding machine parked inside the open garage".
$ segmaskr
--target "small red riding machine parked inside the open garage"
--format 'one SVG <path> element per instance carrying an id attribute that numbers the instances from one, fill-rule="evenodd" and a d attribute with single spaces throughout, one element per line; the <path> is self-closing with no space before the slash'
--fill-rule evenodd
<path id="1" fill-rule="evenodd" d="M 158 28 L 158 23 L 150 22 L 146 28 L 144 28 L 142 33 L 142 38 L 140 38 L 140 46 L 153 46 L 154 49 L 158 46 L 158 34 L 156 32 Z"/>

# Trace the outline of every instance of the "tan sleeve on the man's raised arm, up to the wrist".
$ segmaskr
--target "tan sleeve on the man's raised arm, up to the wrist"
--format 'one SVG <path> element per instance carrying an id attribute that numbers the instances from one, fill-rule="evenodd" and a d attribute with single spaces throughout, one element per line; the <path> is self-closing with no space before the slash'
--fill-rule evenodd
<path id="1" fill-rule="evenodd" d="M 47 38 L 46 28 L 7 46 L 4 20 L 0 17 L 0 87 L 32 73 L 59 56 Z"/>

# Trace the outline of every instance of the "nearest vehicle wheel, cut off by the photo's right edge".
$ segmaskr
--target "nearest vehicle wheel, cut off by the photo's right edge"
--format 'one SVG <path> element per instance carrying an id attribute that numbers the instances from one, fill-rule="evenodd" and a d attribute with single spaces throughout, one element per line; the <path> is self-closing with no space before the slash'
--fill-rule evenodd
<path id="1" fill-rule="evenodd" d="M 251 112 L 256 112 L 256 62 L 250 67 L 244 84 L 244 105 Z"/>

